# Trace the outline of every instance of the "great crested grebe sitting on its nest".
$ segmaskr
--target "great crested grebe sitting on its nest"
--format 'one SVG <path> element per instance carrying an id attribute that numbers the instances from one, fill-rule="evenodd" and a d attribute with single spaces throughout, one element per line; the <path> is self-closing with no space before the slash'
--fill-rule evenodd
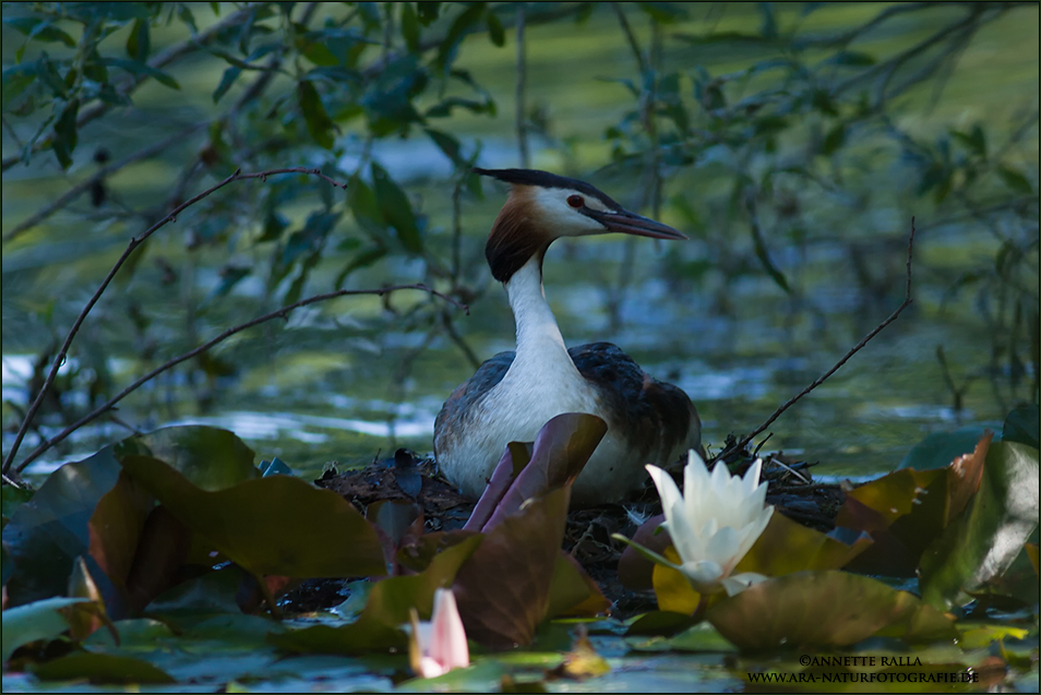
<path id="1" fill-rule="evenodd" d="M 617 346 L 564 346 L 542 290 L 542 259 L 560 237 L 686 237 L 583 181 L 530 169 L 475 171 L 511 184 L 484 256 L 506 289 L 517 349 L 481 364 L 445 400 L 434 423 L 438 465 L 465 495 L 477 498 L 508 442 L 533 441 L 562 412 L 589 412 L 608 423 L 608 432 L 575 481 L 572 501 L 617 502 L 647 477 L 646 464 L 665 466 L 699 450 L 701 420 L 681 388 L 650 378 Z"/>

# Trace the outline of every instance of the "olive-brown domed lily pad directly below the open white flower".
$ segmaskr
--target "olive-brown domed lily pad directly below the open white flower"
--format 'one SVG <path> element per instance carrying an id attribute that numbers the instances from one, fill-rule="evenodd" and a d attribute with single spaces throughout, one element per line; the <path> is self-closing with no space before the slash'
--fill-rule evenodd
<path id="1" fill-rule="evenodd" d="M 954 621 L 907 591 L 847 572 L 801 572 L 756 584 L 707 620 L 742 650 L 845 647 L 884 628 L 909 640 L 953 638 Z"/>

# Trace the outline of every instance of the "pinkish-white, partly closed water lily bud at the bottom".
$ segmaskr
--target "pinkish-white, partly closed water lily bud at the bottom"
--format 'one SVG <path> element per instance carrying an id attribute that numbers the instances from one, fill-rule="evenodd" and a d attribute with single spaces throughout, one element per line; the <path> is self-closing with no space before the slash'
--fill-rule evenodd
<path id="1" fill-rule="evenodd" d="M 434 609 L 429 623 L 420 621 L 412 609 L 411 624 L 408 656 L 416 675 L 432 679 L 470 664 L 466 631 L 452 589 L 434 591 Z"/>

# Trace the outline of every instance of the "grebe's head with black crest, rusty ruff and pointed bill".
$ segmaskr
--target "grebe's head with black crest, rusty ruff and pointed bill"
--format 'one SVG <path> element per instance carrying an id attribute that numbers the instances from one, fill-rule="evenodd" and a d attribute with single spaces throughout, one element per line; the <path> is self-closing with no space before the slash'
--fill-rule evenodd
<path id="1" fill-rule="evenodd" d="M 492 276 L 508 280 L 533 256 L 561 237 L 586 237 L 612 231 L 686 239 L 661 223 L 631 213 L 597 188 L 577 179 L 534 169 L 474 169 L 510 183 L 510 197 L 492 225 L 484 257 Z"/>

